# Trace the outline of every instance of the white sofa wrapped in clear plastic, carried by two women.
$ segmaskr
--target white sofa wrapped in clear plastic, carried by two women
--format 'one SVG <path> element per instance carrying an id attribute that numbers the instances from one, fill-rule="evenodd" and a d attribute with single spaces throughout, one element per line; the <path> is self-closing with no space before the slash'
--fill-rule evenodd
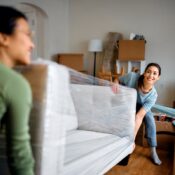
<path id="1" fill-rule="evenodd" d="M 52 61 L 18 67 L 30 83 L 36 175 L 102 175 L 132 153 L 136 91 Z M 95 83 L 94 83 L 95 82 Z M 0 171 L 8 174 L 0 134 Z"/>

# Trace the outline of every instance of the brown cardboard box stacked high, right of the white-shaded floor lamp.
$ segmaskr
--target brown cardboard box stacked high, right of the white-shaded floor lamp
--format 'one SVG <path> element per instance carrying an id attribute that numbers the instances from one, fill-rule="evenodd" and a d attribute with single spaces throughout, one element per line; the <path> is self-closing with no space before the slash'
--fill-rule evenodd
<path id="1" fill-rule="evenodd" d="M 118 59 L 123 61 L 144 60 L 145 41 L 144 40 L 119 40 Z"/>

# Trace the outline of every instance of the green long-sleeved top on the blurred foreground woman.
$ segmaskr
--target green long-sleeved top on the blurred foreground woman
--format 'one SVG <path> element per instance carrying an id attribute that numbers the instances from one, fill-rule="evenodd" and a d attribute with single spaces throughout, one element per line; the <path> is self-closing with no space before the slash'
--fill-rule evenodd
<path id="1" fill-rule="evenodd" d="M 0 64 L 0 120 L 5 119 L 7 157 L 13 175 L 33 175 L 29 135 L 31 89 L 14 70 Z"/>

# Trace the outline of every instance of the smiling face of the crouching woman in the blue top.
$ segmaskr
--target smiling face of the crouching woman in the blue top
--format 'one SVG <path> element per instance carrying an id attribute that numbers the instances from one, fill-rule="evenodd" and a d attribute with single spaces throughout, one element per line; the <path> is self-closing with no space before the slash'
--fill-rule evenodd
<path id="1" fill-rule="evenodd" d="M 155 66 L 148 67 L 148 69 L 144 72 L 144 83 L 154 85 L 159 78 L 159 70 Z"/>

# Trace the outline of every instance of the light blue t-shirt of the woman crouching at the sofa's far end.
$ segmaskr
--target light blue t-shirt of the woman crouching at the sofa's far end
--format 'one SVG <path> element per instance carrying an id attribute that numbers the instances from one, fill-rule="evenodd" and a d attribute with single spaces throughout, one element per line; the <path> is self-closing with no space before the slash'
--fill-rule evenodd
<path id="1" fill-rule="evenodd" d="M 119 82 L 124 86 L 128 86 L 137 90 L 137 103 L 142 105 L 145 111 L 148 112 L 151 110 L 157 100 L 157 91 L 153 87 L 152 90 L 146 94 L 141 92 L 137 87 L 139 77 L 140 75 L 138 73 L 130 72 L 124 76 L 119 77 Z"/>

